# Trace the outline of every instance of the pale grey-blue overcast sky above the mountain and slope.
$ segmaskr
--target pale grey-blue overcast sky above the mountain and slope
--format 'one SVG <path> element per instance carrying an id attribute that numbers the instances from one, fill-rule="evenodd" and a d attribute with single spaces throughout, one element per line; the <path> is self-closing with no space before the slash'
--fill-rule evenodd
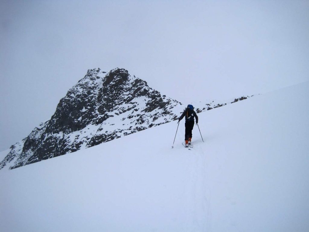
<path id="1" fill-rule="evenodd" d="M 187 104 L 309 80 L 309 1 L 0 0 L 0 150 L 88 69 L 121 67 Z"/>

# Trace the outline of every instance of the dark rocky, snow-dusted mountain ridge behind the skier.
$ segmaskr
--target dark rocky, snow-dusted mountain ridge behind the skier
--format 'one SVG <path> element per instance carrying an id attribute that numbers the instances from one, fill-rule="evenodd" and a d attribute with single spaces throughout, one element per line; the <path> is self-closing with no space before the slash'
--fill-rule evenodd
<path id="1" fill-rule="evenodd" d="M 196 107 L 196 112 L 228 103 L 198 103 L 200 108 Z M 171 122 L 184 108 L 179 101 L 162 96 L 125 69 L 116 68 L 108 73 L 91 69 L 60 100 L 49 121 L 11 146 L 0 169 L 8 164 L 14 169 Z"/>

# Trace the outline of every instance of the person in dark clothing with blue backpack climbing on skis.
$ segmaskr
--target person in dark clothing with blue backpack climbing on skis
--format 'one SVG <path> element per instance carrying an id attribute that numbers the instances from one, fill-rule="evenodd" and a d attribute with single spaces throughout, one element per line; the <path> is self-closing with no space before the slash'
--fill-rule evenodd
<path id="1" fill-rule="evenodd" d="M 196 118 L 196 124 L 198 123 L 198 117 L 197 114 L 194 111 L 193 105 L 188 105 L 187 108 L 184 110 L 184 113 L 181 114 L 181 116 L 178 119 L 178 123 L 185 117 L 185 134 L 184 134 L 184 141 L 185 141 L 185 147 L 188 147 L 188 144 L 191 144 L 192 139 L 192 130 L 194 127 L 194 118 Z"/>

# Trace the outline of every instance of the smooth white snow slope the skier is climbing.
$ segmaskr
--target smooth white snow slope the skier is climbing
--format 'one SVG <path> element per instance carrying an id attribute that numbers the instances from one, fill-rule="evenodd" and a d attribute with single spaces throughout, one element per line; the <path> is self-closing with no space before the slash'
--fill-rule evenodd
<path id="1" fill-rule="evenodd" d="M 309 82 L 0 171 L 1 231 L 309 231 Z"/>

